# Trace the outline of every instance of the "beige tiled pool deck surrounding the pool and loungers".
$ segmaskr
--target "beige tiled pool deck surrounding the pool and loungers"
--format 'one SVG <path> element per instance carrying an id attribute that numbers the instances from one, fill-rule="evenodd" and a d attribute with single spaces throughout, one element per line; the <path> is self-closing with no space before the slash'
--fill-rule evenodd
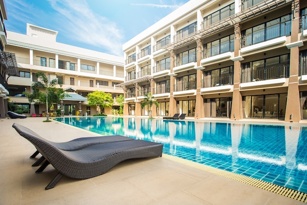
<path id="1" fill-rule="evenodd" d="M 45 186 L 57 174 L 49 165 L 35 174 L 29 159 L 35 151 L 12 124 L 22 124 L 42 137 L 65 142 L 98 136 L 45 117 L 0 119 L 0 205 L 300 205 L 303 202 L 252 185 L 205 172 L 197 167 L 162 157 L 124 161 L 106 174 L 78 180 L 63 176 L 53 189 Z M 193 120 L 188 118 L 187 120 Z M 200 119 L 215 121 L 212 118 Z M 230 120 L 216 120 L 230 121 Z M 230 121 L 233 122 L 233 121 Z M 261 124 L 307 126 L 307 121 L 240 120 Z M 39 155 L 40 156 L 40 155 Z"/>

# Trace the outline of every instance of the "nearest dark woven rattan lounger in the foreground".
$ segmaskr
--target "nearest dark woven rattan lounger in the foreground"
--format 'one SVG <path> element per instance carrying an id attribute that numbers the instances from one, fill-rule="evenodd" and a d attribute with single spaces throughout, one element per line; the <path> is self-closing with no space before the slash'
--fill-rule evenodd
<path id="1" fill-rule="evenodd" d="M 16 131 L 30 141 L 58 171 L 45 189 L 53 188 L 62 176 L 87 179 L 100 176 L 116 164 L 132 158 L 162 156 L 163 144 L 128 140 L 66 151 L 58 149 L 30 129 L 14 123 Z"/>

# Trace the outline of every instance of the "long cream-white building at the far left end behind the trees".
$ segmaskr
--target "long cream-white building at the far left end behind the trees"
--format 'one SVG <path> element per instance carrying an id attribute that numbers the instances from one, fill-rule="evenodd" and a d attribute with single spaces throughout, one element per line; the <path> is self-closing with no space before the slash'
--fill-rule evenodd
<path id="1" fill-rule="evenodd" d="M 62 82 L 61 88 L 70 95 L 53 110 L 61 109 L 63 115 L 96 114 L 96 107 L 87 105 L 86 96 L 104 91 L 112 93 L 115 101 L 123 94 L 122 88 L 115 87 L 124 82 L 123 58 L 56 42 L 57 33 L 30 24 L 26 25 L 26 35 L 7 31 L 6 51 L 15 54 L 19 71 L 19 76 L 7 78 L 10 102 L 25 107 L 30 114 L 45 113 L 46 105 L 30 104 L 23 94 L 31 92 L 36 73 L 42 71 L 49 80 Z M 112 114 L 111 109 L 104 113 Z"/>

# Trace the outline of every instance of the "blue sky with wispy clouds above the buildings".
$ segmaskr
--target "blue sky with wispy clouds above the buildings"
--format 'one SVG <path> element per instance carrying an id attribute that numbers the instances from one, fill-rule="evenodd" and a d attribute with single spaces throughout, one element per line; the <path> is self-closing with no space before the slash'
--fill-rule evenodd
<path id="1" fill-rule="evenodd" d="M 188 0 L 5 0 L 5 29 L 26 23 L 58 31 L 56 41 L 123 56 L 123 44 Z"/>

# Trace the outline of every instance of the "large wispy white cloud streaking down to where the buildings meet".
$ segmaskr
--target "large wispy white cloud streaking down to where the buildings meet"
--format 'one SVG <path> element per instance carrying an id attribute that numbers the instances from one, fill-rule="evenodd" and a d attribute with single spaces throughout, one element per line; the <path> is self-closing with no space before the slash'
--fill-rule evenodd
<path id="1" fill-rule="evenodd" d="M 117 25 L 89 8 L 85 0 L 48 0 L 58 12 L 61 32 L 78 42 L 103 47 L 107 53 L 122 56 L 123 36 Z"/>

